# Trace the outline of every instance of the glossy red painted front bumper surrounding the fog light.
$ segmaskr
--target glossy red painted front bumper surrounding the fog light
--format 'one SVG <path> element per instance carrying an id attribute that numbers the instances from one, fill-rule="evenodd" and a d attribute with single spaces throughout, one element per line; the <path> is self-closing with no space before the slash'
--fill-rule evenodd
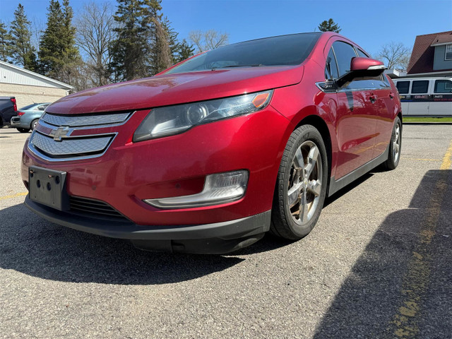
<path id="1" fill-rule="evenodd" d="M 196 126 L 175 136 L 132 142 L 149 110 L 120 126 L 81 129 L 77 136 L 115 133 L 105 153 L 89 159 L 46 160 L 25 145 L 22 179 L 31 165 L 67 173 L 69 196 L 104 201 L 136 225 L 208 225 L 271 209 L 289 121 L 271 106 L 260 112 Z M 44 126 L 37 126 L 38 133 Z M 76 133 L 74 131 L 71 136 Z M 198 194 L 209 174 L 249 172 L 246 194 L 215 206 L 160 209 L 144 201 Z"/>

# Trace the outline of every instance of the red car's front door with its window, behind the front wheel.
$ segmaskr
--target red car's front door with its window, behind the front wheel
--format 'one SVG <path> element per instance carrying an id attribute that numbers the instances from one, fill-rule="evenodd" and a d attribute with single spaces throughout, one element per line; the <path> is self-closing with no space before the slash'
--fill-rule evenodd
<path id="1" fill-rule="evenodd" d="M 343 41 L 334 42 L 333 51 L 339 76 L 343 76 L 350 71 L 352 58 L 357 57 L 357 54 L 351 44 Z M 372 159 L 376 138 L 374 86 L 372 81 L 358 79 L 338 88 L 336 180 Z"/>

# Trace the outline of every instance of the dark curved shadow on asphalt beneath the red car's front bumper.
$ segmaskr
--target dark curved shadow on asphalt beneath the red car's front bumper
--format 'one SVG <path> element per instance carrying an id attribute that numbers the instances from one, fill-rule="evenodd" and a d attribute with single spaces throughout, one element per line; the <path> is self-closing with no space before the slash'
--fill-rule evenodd
<path id="1" fill-rule="evenodd" d="M 54 225 L 19 204 L 0 210 L 0 268 L 75 283 L 178 283 L 244 259 L 148 252 L 121 239 Z"/>

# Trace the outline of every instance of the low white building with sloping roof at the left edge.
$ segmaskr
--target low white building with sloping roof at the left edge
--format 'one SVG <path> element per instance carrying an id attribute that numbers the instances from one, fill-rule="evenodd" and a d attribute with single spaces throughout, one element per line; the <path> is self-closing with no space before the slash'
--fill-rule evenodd
<path id="1" fill-rule="evenodd" d="M 0 61 L 0 97 L 16 97 L 17 107 L 54 102 L 73 90 L 71 85 Z"/>

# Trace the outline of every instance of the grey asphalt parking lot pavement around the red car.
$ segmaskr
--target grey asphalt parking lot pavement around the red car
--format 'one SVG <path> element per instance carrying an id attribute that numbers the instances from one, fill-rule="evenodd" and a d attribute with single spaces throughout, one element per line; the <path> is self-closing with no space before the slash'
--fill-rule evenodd
<path id="1" fill-rule="evenodd" d="M 145 252 L 23 206 L 29 133 L 0 129 L 0 338 L 452 338 L 452 125 L 406 124 L 391 172 L 298 242 Z"/>

